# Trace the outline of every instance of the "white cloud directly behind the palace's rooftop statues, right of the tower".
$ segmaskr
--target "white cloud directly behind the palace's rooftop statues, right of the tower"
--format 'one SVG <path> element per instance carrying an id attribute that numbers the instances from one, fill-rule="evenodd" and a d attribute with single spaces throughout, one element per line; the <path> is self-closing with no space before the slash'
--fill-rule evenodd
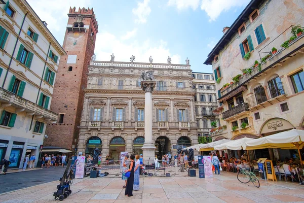
<path id="1" fill-rule="evenodd" d="M 172 54 L 164 41 L 151 42 L 149 39 L 138 42 L 121 41 L 109 32 L 97 33 L 95 54 L 97 60 L 109 61 L 110 55 L 114 53 L 115 61 L 130 61 L 134 55 L 136 62 L 149 62 L 149 56 L 153 57 L 155 63 L 167 63 L 168 56 L 172 63 L 180 63 L 180 56 Z"/>

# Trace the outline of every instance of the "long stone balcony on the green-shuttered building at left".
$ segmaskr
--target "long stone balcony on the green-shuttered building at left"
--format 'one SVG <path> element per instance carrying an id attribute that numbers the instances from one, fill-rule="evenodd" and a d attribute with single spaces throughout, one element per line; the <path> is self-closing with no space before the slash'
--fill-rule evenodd
<path id="1" fill-rule="evenodd" d="M 43 116 L 45 120 L 57 121 L 58 114 L 47 110 L 23 97 L 14 94 L 4 88 L 0 88 L 0 102 L 6 106 L 14 106 L 16 109 L 19 109 L 19 112 L 24 111 L 29 114 L 37 116 Z"/>

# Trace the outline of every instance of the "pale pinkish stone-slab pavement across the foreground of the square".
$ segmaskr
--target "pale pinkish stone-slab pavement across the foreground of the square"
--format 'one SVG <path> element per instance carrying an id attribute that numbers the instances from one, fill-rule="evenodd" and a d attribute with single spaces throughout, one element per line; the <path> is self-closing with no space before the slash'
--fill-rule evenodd
<path id="1" fill-rule="evenodd" d="M 242 184 L 234 173 L 221 173 L 210 179 L 187 177 L 179 173 L 176 177 L 140 178 L 140 190 L 133 191 L 132 197 L 124 195 L 124 182 L 120 177 L 75 179 L 72 193 L 62 202 L 304 202 L 304 186 L 285 181 L 260 180 L 260 188 L 250 182 Z M 0 195 L 2 202 L 59 202 L 53 193 L 59 182 L 21 189 Z"/>

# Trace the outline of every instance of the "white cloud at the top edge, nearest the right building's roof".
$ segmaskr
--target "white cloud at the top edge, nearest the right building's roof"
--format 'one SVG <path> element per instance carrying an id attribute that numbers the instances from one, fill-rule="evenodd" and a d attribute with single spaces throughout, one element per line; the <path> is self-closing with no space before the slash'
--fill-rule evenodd
<path id="1" fill-rule="evenodd" d="M 246 6 L 250 0 L 202 0 L 201 9 L 210 17 L 209 21 L 215 21 L 223 11 L 233 7 Z"/>

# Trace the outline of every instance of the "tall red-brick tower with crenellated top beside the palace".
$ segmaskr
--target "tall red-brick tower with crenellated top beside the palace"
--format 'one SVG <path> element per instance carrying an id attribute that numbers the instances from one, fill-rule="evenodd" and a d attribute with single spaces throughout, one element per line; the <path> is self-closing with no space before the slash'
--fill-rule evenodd
<path id="1" fill-rule="evenodd" d="M 57 123 L 48 124 L 44 146 L 77 147 L 88 65 L 94 54 L 98 24 L 92 9 L 69 9 L 63 41 L 67 55 L 59 61 L 51 111 L 59 114 Z"/>

